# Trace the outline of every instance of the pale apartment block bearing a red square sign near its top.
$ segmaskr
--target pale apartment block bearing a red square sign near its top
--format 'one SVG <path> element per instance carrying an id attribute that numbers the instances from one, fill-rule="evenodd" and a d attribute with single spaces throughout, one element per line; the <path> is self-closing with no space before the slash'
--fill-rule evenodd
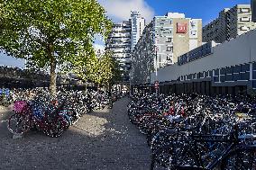
<path id="1" fill-rule="evenodd" d="M 184 13 L 167 13 L 153 19 L 156 67 L 165 67 L 202 44 L 202 20 L 185 18 Z"/>

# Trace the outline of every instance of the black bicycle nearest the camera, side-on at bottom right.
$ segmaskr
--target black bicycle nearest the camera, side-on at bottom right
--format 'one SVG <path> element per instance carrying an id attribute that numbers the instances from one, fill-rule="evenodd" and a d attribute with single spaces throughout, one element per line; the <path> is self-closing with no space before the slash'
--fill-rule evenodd
<path id="1" fill-rule="evenodd" d="M 256 135 L 238 135 L 234 126 L 230 135 L 192 135 L 192 142 L 185 140 L 171 140 L 168 145 L 158 148 L 151 159 L 151 170 L 160 162 L 158 158 L 168 156 L 161 166 L 169 169 L 256 169 L 256 145 L 255 142 L 246 143 L 246 140 L 255 140 Z M 216 154 L 214 149 L 208 149 L 204 144 L 221 144 L 223 149 Z M 163 154 L 165 153 L 165 154 Z M 209 159 L 208 157 L 212 157 Z M 207 160 L 206 160 L 207 159 Z"/>

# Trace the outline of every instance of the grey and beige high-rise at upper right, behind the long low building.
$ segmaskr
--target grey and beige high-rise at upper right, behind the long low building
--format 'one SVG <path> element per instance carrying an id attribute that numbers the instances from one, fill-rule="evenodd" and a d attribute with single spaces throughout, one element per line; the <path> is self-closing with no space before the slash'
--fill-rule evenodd
<path id="1" fill-rule="evenodd" d="M 256 28 L 251 22 L 251 4 L 237 4 L 233 8 L 224 8 L 219 17 L 203 27 L 203 41 L 215 40 L 222 43 Z"/>

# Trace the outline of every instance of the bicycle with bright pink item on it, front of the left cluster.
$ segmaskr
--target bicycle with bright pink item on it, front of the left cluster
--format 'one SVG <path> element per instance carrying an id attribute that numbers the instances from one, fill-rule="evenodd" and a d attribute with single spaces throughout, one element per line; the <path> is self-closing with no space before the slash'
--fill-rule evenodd
<path id="1" fill-rule="evenodd" d="M 13 134 L 23 133 L 36 128 L 50 137 L 59 137 L 69 127 L 61 112 L 65 101 L 51 112 L 33 112 L 32 103 L 14 103 L 14 114 L 8 119 L 7 128 Z"/>

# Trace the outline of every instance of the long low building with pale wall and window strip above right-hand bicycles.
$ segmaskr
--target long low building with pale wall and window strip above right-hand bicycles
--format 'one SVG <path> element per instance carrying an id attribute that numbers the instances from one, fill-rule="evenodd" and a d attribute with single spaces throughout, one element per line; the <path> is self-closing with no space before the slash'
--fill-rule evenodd
<path id="1" fill-rule="evenodd" d="M 210 45 L 208 45 L 210 44 Z M 151 73 L 151 84 L 178 94 L 237 94 L 256 90 L 256 30 L 223 44 L 207 43 L 178 63 Z"/>

